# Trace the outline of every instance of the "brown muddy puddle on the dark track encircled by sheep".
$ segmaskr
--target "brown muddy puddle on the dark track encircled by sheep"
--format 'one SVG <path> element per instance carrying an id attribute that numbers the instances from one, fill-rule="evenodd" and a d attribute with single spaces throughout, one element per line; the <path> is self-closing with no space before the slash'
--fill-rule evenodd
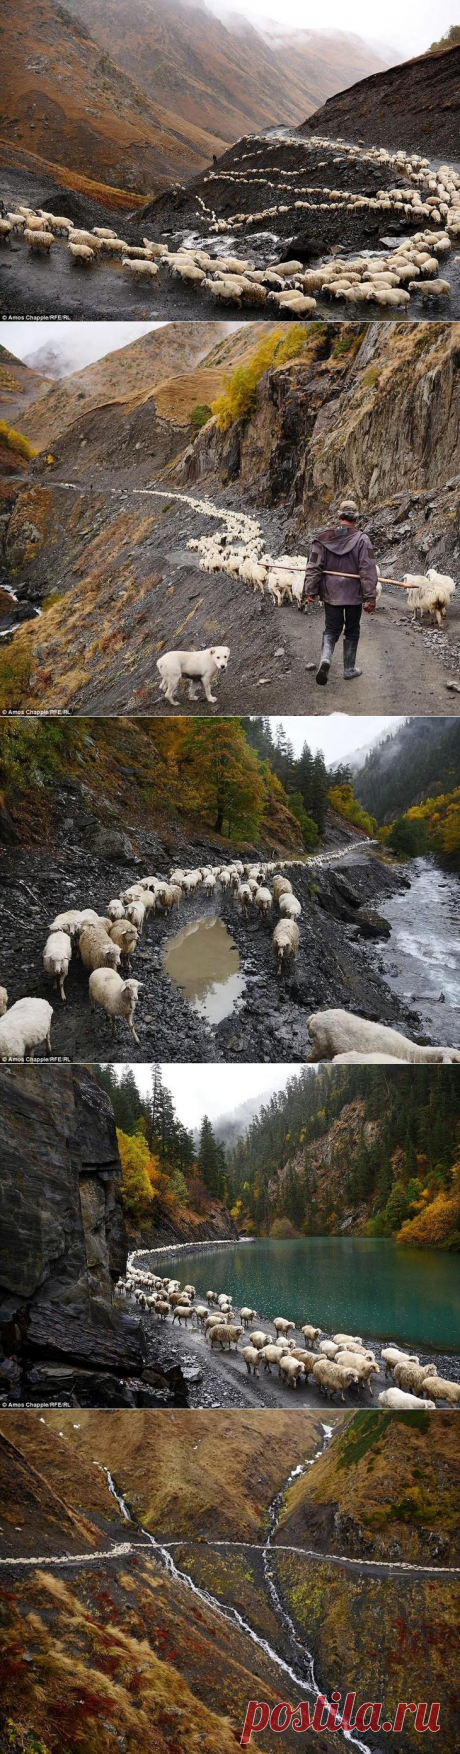
<path id="1" fill-rule="evenodd" d="M 214 914 L 190 921 L 169 938 L 163 972 L 212 1024 L 232 1016 L 246 986 L 235 940 Z"/>

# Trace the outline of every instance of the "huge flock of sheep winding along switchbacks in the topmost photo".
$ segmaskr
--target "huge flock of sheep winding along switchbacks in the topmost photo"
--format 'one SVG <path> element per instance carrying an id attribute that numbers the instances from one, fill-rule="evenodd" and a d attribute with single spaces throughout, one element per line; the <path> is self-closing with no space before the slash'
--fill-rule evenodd
<path id="1" fill-rule="evenodd" d="M 302 144 L 305 151 L 321 146 L 330 151 L 332 146 L 330 140 L 320 137 Z M 205 247 L 183 244 L 170 251 L 167 244 L 151 242 L 147 237 L 142 239 L 142 246 L 128 244 L 118 237 L 112 226 L 84 230 L 65 214 L 51 214 L 44 207 L 35 210 L 23 203 L 18 205 L 18 210 L 2 212 L 0 242 L 7 244 L 11 237 L 19 235 L 30 251 L 49 256 L 54 242 L 61 237 L 72 261 L 79 267 L 93 268 L 100 258 L 119 260 L 121 267 L 140 284 L 156 281 L 160 270 L 167 270 L 186 286 L 209 293 L 218 303 L 237 305 L 237 309 L 272 305 L 286 316 L 314 316 L 316 293 L 327 298 L 342 298 L 351 305 L 377 303 L 395 310 L 409 305 L 411 293 L 420 293 L 423 300 L 448 298 L 449 282 L 439 279 L 439 258 L 448 256 L 460 237 L 460 175 L 451 165 L 430 170 L 428 160 L 418 154 L 363 151 L 360 146 L 351 147 L 342 140 L 335 146 L 351 165 L 356 161 L 362 161 L 363 168 L 376 161 L 385 167 L 392 165 L 395 174 L 406 177 L 406 188 L 379 189 L 376 196 L 328 188 L 318 189 L 298 182 L 298 177 L 304 175 L 300 168 L 286 172 L 274 165 L 276 181 L 270 184 L 269 179 L 269 188 L 274 186 L 277 195 L 286 193 L 288 200 L 277 200 L 276 205 L 262 207 L 256 212 L 235 212 L 230 219 L 218 219 L 214 209 L 198 196 L 200 214 L 209 233 L 241 232 L 255 221 L 262 223 L 286 212 L 297 214 L 302 209 L 321 212 L 335 207 L 341 212 L 377 210 L 386 225 L 388 214 L 406 216 L 411 223 L 420 217 L 425 225 L 411 235 L 409 242 L 402 240 L 392 251 L 363 253 L 346 261 L 342 254 L 335 254 L 318 268 L 305 270 L 304 263 L 297 260 L 274 261 L 258 268 L 251 256 L 212 256 Z M 260 147 L 260 154 L 276 151 L 276 146 Z M 249 156 L 242 154 L 242 158 Z M 255 156 L 258 156 L 258 149 L 255 149 Z M 267 186 L 265 172 L 256 170 L 209 170 L 204 186 L 212 186 L 212 181 L 230 181 L 232 184 L 258 184 L 260 181 Z"/>

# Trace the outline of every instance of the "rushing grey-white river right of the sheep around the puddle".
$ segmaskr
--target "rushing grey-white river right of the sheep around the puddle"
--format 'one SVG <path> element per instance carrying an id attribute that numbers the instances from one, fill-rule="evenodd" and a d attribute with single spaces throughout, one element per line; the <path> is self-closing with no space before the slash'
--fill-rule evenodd
<path id="1" fill-rule="evenodd" d="M 414 859 L 411 889 L 385 898 L 392 938 L 376 961 L 399 998 L 413 1003 L 430 1042 L 460 1042 L 460 882 L 434 859 Z"/>

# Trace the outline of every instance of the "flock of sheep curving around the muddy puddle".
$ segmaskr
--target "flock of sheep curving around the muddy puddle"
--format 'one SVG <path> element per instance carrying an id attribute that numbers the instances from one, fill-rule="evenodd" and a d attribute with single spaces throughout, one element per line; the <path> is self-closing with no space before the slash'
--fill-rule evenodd
<path id="1" fill-rule="evenodd" d="M 118 1017 L 121 1017 L 128 1024 L 133 1040 L 139 1042 L 133 1028 L 133 1014 L 144 982 L 133 979 L 130 968 L 149 912 L 155 914 L 160 910 L 169 916 L 174 907 L 179 907 L 183 900 L 198 889 L 205 896 L 218 895 L 219 891 L 234 895 L 244 919 L 253 910 L 260 919 L 270 921 L 272 909 L 277 907 L 279 917 L 272 931 L 272 951 L 277 975 L 281 975 L 295 963 L 300 945 L 297 923 L 302 916 L 291 881 L 284 875 L 286 866 L 293 870 L 297 866 L 304 868 L 305 863 L 327 865 L 332 858 L 346 858 L 346 854 L 348 847 L 341 849 L 339 854 L 318 852 L 307 861 L 302 858 L 258 859 L 253 863 L 234 859 L 230 865 L 200 865 L 193 870 L 177 866 L 170 872 L 169 879 L 156 875 L 142 877 L 123 889 L 119 896 L 114 896 L 104 916 L 97 914 L 91 907 L 70 907 L 56 914 L 42 952 L 44 973 L 54 982 L 61 1000 L 65 1000 L 65 980 L 72 952 L 75 951 L 90 977 L 91 1007 L 100 1005 L 105 1010 L 105 1016 L 112 1023 L 112 1035 L 116 1035 Z M 128 970 L 126 979 L 119 973 L 119 966 L 125 972 Z M 2 986 L 0 1061 L 30 1059 L 33 1049 L 42 1042 L 46 1042 L 46 1049 L 51 1052 L 51 1019 L 53 1007 L 47 1000 L 30 996 L 16 1000 L 9 1007 L 9 995 Z M 370 1023 L 348 1010 L 314 1012 L 307 1019 L 307 1030 L 311 1061 L 327 1059 L 335 1065 L 395 1061 L 460 1063 L 460 1049 L 456 1047 L 420 1045 L 386 1024 Z"/>

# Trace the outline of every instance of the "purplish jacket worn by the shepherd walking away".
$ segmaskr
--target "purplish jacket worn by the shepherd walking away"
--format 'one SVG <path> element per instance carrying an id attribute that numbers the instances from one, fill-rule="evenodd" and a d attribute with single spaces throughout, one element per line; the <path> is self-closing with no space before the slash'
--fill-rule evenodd
<path id="1" fill-rule="evenodd" d="M 372 544 L 362 530 L 332 524 L 313 538 L 304 596 L 323 603 L 369 603 L 376 600 L 377 568 Z"/>

